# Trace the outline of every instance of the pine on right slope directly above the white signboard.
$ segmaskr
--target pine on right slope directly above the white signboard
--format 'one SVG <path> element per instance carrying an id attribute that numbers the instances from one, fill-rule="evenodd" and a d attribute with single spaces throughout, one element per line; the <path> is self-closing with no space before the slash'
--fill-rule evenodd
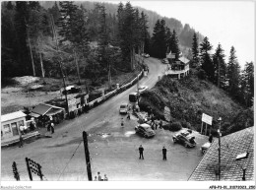
<path id="1" fill-rule="evenodd" d="M 206 72 L 208 79 L 214 82 L 214 76 L 215 76 L 214 64 L 213 64 L 211 55 L 209 53 L 209 51 L 212 50 L 213 46 L 209 42 L 207 36 L 204 38 L 200 46 L 201 46 L 200 56 L 201 56 L 202 69 Z"/>

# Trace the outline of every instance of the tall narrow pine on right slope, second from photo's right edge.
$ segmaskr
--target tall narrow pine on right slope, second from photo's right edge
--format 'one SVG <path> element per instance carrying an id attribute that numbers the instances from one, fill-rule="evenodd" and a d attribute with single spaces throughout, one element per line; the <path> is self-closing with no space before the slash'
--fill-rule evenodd
<path id="1" fill-rule="evenodd" d="M 237 57 L 235 55 L 235 49 L 231 46 L 230 55 L 227 63 L 227 92 L 229 95 L 238 99 L 239 95 L 239 81 L 240 81 L 240 66 L 237 62 Z"/>

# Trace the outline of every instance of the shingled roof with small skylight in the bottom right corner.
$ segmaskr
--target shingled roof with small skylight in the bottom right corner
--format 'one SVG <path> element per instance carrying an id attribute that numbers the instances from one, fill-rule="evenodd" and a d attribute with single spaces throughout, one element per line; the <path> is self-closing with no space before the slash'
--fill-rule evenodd
<path id="1" fill-rule="evenodd" d="M 216 140 L 201 159 L 188 180 L 218 180 L 219 141 Z M 248 153 L 246 158 L 237 156 Z M 226 135 L 221 138 L 221 180 L 241 181 L 243 168 L 245 180 L 254 180 L 254 127 Z"/>

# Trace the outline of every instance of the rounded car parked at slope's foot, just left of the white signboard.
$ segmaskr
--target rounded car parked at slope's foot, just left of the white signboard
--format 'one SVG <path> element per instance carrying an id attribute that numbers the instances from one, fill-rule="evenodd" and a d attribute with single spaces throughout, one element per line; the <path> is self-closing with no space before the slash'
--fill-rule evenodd
<path id="1" fill-rule="evenodd" d="M 196 146 L 195 137 L 191 135 L 192 131 L 182 130 L 181 132 L 173 135 L 173 143 L 179 143 L 184 145 L 186 148 L 192 148 Z"/>

